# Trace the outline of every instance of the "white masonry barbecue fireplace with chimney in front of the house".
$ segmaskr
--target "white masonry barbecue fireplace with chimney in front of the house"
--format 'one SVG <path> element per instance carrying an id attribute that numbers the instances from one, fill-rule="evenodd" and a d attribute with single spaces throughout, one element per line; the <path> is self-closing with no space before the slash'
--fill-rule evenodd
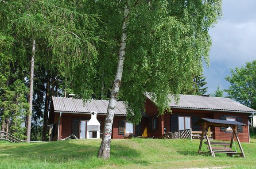
<path id="1" fill-rule="evenodd" d="M 97 112 L 91 111 L 91 119 L 87 123 L 86 138 L 100 138 L 100 122 L 97 120 Z"/>

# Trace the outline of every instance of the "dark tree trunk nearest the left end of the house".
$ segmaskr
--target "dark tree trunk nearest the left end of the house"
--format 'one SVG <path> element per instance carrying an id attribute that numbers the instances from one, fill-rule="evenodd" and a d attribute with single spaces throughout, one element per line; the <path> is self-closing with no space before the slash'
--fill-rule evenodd
<path id="1" fill-rule="evenodd" d="M 48 124 L 48 111 L 49 111 L 49 100 L 50 100 L 50 76 L 47 75 L 46 93 L 45 93 L 45 104 L 44 104 L 44 115 L 43 115 L 43 141 L 46 141 L 47 124 Z"/>

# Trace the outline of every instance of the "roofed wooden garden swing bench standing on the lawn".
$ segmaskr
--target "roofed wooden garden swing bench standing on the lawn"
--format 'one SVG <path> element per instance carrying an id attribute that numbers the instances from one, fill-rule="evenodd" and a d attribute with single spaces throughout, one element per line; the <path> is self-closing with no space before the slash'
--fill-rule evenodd
<path id="1" fill-rule="evenodd" d="M 202 142 L 203 142 L 203 138 L 205 136 L 205 138 L 206 138 L 205 144 L 207 145 L 207 149 L 209 149 L 212 157 L 215 157 L 215 153 L 226 153 L 230 157 L 232 157 L 233 155 L 240 155 L 240 157 L 245 158 L 243 148 L 242 148 L 240 140 L 237 136 L 237 125 L 246 126 L 245 124 L 237 122 L 237 121 L 201 118 L 198 120 L 197 123 L 195 123 L 195 125 L 202 125 L 202 129 L 203 129 L 198 154 L 201 154 Z M 233 132 L 232 132 L 232 137 L 231 137 L 230 143 L 228 143 L 228 142 L 210 142 L 209 137 L 206 132 L 206 131 L 208 131 L 209 127 L 225 127 L 225 128 L 231 127 Z M 237 147 L 236 147 L 236 144 L 234 143 L 234 137 L 236 137 L 236 139 L 237 139 L 237 143 L 240 148 L 240 153 L 237 153 Z M 234 143 L 235 150 L 232 150 L 233 143 Z"/>

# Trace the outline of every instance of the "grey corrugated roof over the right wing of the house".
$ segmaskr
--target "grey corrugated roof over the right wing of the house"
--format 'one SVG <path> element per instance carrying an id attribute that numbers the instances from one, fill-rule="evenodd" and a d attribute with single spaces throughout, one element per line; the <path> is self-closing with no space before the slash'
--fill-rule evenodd
<path id="1" fill-rule="evenodd" d="M 151 100 L 151 96 L 148 93 L 145 95 Z M 256 112 L 256 110 L 253 110 L 252 108 L 248 108 L 243 104 L 224 97 L 180 95 L 180 100 L 177 104 L 173 101 L 172 96 L 169 98 L 172 100 L 169 103 L 171 108 L 198 108 L 223 111 Z"/>

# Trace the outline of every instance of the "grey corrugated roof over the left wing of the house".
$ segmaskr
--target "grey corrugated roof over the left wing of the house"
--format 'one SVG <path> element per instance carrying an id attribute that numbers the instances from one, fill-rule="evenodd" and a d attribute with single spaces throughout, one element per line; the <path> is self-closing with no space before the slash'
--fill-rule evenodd
<path id="1" fill-rule="evenodd" d="M 106 114 L 109 100 L 88 100 L 83 103 L 82 99 L 67 97 L 52 97 L 54 111 L 90 113 L 96 111 L 98 114 Z M 116 115 L 127 115 L 124 103 L 116 102 Z"/>

